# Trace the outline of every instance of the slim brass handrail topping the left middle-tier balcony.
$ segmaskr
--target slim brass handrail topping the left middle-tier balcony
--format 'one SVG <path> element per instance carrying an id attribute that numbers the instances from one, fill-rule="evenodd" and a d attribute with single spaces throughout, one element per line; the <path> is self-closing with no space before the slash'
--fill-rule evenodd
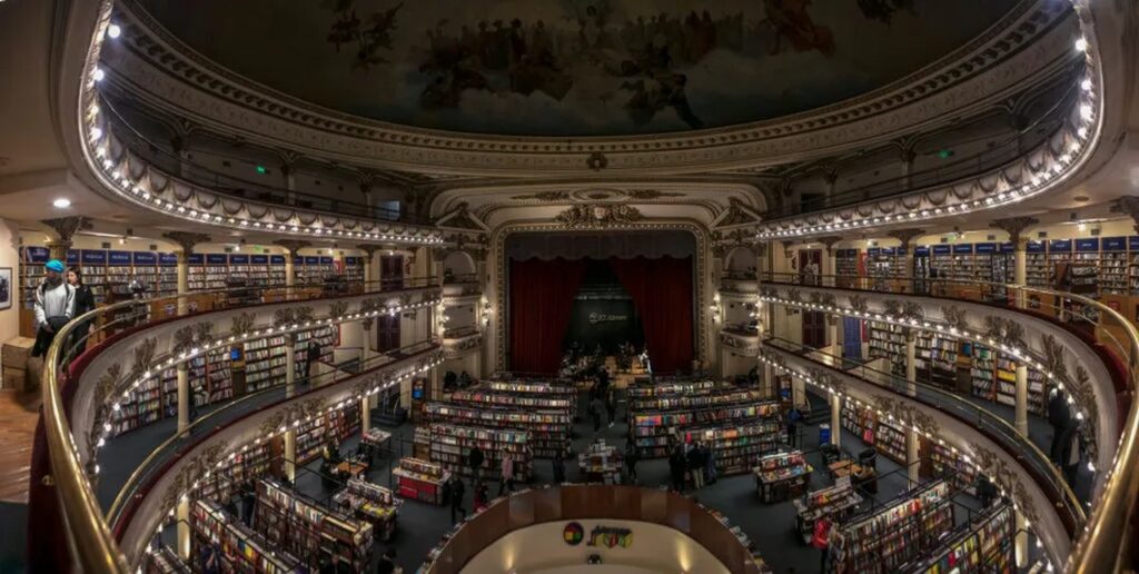
<path id="1" fill-rule="evenodd" d="M 434 277 L 428 278 L 404 278 L 403 280 L 411 280 L 412 282 L 421 279 L 427 279 L 433 281 Z M 383 287 L 384 281 L 364 281 L 364 284 L 377 284 Z M 403 287 L 402 281 L 399 287 L 391 289 L 387 293 L 404 290 L 408 288 L 429 288 L 436 287 L 437 284 L 431 284 L 423 287 Z M 80 317 L 76 317 L 68 321 L 63 328 L 60 328 L 51 345 L 48 347 L 47 353 L 43 358 L 43 375 L 41 379 L 42 386 L 42 399 L 43 399 L 43 428 L 44 437 L 47 440 L 48 457 L 51 464 L 51 483 L 56 487 L 56 493 L 59 497 L 59 506 L 62 509 L 62 518 L 66 525 L 66 538 L 71 549 L 71 555 L 79 563 L 85 572 L 110 572 L 118 574 L 129 574 L 131 568 L 126 564 L 125 557 L 118 551 L 118 547 L 112 536 L 109 526 L 106 522 L 106 517 L 99 507 L 95 490 L 91 486 L 91 482 L 88 479 L 87 472 L 83 469 L 83 465 L 80 460 L 79 451 L 75 446 L 75 440 L 72 435 L 71 424 L 66 416 L 66 407 L 64 404 L 62 388 L 60 388 L 60 376 L 59 366 L 69 360 L 65 353 L 65 346 L 71 335 L 75 331 L 79 326 L 87 326 L 89 322 L 96 319 L 108 315 L 109 313 L 137 309 L 140 305 L 150 305 L 158 302 L 178 302 L 179 300 L 185 300 L 188 296 L 196 295 L 221 295 L 229 293 L 248 293 L 251 290 L 263 290 L 263 292 L 281 292 L 288 293 L 292 290 L 302 290 L 305 295 L 297 300 L 286 300 L 276 303 L 292 303 L 297 301 L 311 301 L 318 298 L 336 298 L 336 297 L 322 297 L 320 294 L 313 296 L 314 287 L 311 285 L 295 286 L 295 287 L 232 287 L 223 289 L 208 289 L 199 292 L 190 292 L 181 295 L 169 295 L 162 297 L 154 297 L 149 300 L 129 300 L 120 303 L 114 303 L 110 305 L 105 305 Z M 380 292 L 367 292 L 359 294 L 337 294 L 337 296 L 359 296 L 367 295 L 369 293 L 385 293 Z M 108 323 L 116 322 L 114 320 L 108 321 Z"/>

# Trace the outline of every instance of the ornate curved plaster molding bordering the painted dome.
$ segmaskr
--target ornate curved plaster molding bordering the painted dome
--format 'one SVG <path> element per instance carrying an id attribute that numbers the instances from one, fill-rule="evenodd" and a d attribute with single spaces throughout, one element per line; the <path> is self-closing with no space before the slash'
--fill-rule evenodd
<path id="1" fill-rule="evenodd" d="M 1042 68 L 1059 65 L 1058 55 L 1071 42 L 1057 31 L 1068 17 L 1063 5 L 1025 1 L 985 34 L 915 74 L 812 112 L 688 133 L 505 138 L 405 128 L 320 108 L 196 55 L 136 1 L 122 6 L 129 48 L 116 50 L 110 64 L 151 99 L 179 107 L 199 123 L 229 124 L 267 140 L 441 173 L 744 169 L 757 158 L 861 146 L 883 133 L 943 122 L 978 100 L 997 99 Z"/>

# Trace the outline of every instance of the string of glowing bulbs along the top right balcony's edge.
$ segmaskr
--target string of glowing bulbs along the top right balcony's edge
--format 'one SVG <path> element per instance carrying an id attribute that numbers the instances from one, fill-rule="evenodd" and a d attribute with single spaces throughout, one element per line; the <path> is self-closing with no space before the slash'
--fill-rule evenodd
<path id="1" fill-rule="evenodd" d="M 1088 41 L 1080 38 L 1075 42 L 1075 49 L 1080 52 L 1087 52 Z M 1087 66 L 1092 67 L 1092 62 L 1090 56 L 1085 56 Z M 880 226 L 888 223 L 900 223 L 908 221 L 917 221 L 918 219 L 927 219 L 931 216 L 941 215 L 960 215 L 970 213 L 980 210 L 989 210 L 992 207 L 1000 207 L 1002 205 L 1009 205 L 1023 199 L 1027 199 L 1034 195 L 1038 195 L 1044 190 L 1044 188 L 1055 179 L 1057 179 L 1064 169 L 1072 164 L 1073 155 L 1080 153 L 1083 149 L 1083 142 L 1088 139 L 1088 125 L 1096 117 L 1096 108 L 1092 106 L 1095 101 L 1095 92 L 1092 91 L 1093 83 L 1091 77 L 1083 77 L 1080 80 L 1080 89 L 1083 92 L 1081 101 L 1079 104 L 1080 114 L 1080 125 L 1076 129 L 1077 139 L 1073 140 L 1066 153 L 1062 154 L 1057 159 L 1058 162 L 1051 166 L 1050 170 L 1044 170 L 1041 174 L 1035 174 L 1030 178 L 1030 183 L 1025 183 L 1016 189 L 1008 191 L 990 191 L 989 197 L 984 199 L 974 199 L 972 202 L 961 202 L 959 204 L 950 204 L 945 207 L 934 207 L 934 208 L 915 208 L 909 210 L 904 213 L 899 214 L 885 214 L 885 215 L 859 215 L 858 212 L 853 212 L 851 219 L 847 221 L 836 221 L 834 223 L 819 223 L 816 226 L 798 224 L 798 223 L 785 223 L 785 224 L 769 224 L 764 226 L 762 231 L 756 233 L 756 239 L 780 239 L 787 237 L 801 237 L 805 235 L 825 233 L 829 231 L 842 231 L 842 230 L 857 230 L 865 229 L 871 226 Z M 1048 144 L 1044 144 L 1046 146 Z M 831 212 L 831 219 L 839 219 L 838 212 Z M 821 215 L 826 218 L 827 215 Z"/>

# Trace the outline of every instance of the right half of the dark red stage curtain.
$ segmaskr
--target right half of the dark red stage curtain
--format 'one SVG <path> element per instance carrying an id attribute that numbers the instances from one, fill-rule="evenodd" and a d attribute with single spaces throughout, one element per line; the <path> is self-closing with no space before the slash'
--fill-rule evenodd
<path id="1" fill-rule="evenodd" d="M 653 372 L 691 369 L 693 259 L 613 257 L 609 265 L 641 315 Z"/>

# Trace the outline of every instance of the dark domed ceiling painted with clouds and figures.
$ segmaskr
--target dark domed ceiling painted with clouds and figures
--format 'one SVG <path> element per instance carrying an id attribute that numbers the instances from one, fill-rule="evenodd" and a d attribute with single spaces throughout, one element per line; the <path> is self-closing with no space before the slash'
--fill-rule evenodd
<path id="1" fill-rule="evenodd" d="M 804 112 L 967 44 L 1016 0 L 138 0 L 218 64 L 313 104 L 508 136 Z"/>

